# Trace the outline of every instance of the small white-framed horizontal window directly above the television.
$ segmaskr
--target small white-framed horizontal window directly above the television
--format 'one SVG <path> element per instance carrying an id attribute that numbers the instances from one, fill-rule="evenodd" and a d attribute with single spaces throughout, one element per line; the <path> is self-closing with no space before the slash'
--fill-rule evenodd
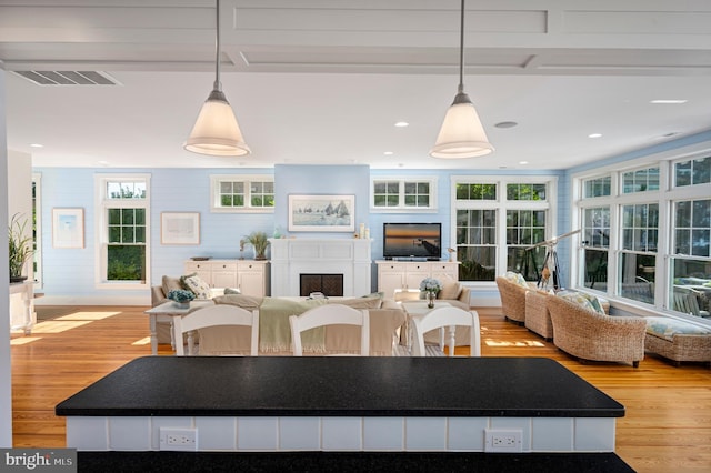
<path id="1" fill-rule="evenodd" d="M 437 209 L 434 178 L 375 178 L 371 181 L 373 211 L 415 211 Z"/>

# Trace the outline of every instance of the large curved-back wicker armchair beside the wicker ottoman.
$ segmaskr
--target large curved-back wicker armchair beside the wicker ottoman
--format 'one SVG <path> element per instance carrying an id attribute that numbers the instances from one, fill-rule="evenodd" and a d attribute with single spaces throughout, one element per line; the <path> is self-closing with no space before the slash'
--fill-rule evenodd
<path id="1" fill-rule="evenodd" d="M 617 361 L 639 366 L 644 359 L 644 318 L 610 316 L 562 298 L 547 301 L 555 346 L 582 360 Z"/>

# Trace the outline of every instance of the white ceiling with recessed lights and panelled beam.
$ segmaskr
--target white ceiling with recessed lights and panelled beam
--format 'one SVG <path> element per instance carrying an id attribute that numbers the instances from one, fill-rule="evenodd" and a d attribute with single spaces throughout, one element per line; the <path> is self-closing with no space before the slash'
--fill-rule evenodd
<path id="1" fill-rule="evenodd" d="M 212 0 L 0 0 L 6 70 L 119 82 L 6 74 L 8 144 L 36 167 L 561 169 L 711 129 L 711 2 L 469 0 L 464 84 L 495 151 L 430 158 L 459 81 L 459 8 L 222 0 L 222 87 L 252 154 L 209 158 L 182 142 L 214 79 Z"/>

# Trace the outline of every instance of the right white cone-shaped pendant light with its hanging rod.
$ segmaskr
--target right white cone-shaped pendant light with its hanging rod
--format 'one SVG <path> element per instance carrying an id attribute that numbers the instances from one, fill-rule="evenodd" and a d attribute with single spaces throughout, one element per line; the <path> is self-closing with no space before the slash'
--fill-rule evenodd
<path id="1" fill-rule="evenodd" d="M 464 0 L 459 39 L 459 89 L 430 150 L 432 158 L 461 159 L 483 157 L 493 151 L 474 104 L 464 93 Z"/>

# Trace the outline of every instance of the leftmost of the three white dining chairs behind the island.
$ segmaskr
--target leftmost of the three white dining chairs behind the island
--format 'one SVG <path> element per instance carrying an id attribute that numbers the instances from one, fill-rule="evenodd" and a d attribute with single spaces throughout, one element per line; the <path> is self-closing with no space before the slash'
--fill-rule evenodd
<path id="1" fill-rule="evenodd" d="M 217 304 L 190 312 L 183 316 L 176 316 L 173 320 L 173 336 L 176 343 L 176 354 L 194 354 L 193 332 L 209 326 L 239 325 L 250 326 L 250 355 L 257 356 L 259 352 L 259 310 L 248 311 L 237 305 Z M 183 333 L 188 334 L 188 353 L 184 353 Z"/>

